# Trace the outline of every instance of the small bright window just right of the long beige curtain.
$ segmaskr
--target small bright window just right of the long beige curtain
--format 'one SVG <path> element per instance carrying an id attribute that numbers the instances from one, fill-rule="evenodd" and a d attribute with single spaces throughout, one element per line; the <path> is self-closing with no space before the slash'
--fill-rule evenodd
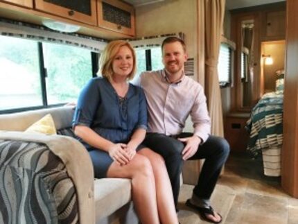
<path id="1" fill-rule="evenodd" d="M 231 53 L 228 44 L 220 44 L 220 55 L 218 58 L 218 79 L 220 85 L 227 85 L 231 82 Z"/>

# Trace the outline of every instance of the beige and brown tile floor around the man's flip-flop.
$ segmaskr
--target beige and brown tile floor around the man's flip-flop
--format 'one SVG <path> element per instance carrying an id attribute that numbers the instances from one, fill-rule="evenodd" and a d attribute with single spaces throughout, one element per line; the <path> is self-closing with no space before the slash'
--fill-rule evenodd
<path id="1" fill-rule="evenodd" d="M 182 224 L 207 223 L 184 205 L 193 186 L 183 184 L 179 195 L 179 221 Z M 263 175 L 261 158 L 245 153 L 231 154 L 225 173 L 218 180 L 211 203 L 225 224 L 297 224 L 298 199 L 281 189 L 280 178 Z"/>

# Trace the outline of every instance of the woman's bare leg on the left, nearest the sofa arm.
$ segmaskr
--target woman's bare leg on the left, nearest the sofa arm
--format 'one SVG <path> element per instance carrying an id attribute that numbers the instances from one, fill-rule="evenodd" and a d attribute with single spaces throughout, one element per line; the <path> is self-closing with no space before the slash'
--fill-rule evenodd
<path id="1" fill-rule="evenodd" d="M 142 224 L 159 223 L 157 212 L 155 178 L 148 158 L 134 155 L 126 165 L 113 162 L 107 171 L 108 178 L 130 178 L 132 180 L 132 200 Z"/>

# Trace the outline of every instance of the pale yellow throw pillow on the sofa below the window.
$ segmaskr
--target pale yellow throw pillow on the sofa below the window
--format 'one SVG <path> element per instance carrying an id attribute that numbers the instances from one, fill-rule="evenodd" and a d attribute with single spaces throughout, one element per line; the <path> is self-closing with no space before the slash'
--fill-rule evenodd
<path id="1" fill-rule="evenodd" d="M 55 123 L 51 114 L 46 114 L 42 119 L 36 121 L 25 132 L 37 132 L 46 135 L 56 135 Z"/>

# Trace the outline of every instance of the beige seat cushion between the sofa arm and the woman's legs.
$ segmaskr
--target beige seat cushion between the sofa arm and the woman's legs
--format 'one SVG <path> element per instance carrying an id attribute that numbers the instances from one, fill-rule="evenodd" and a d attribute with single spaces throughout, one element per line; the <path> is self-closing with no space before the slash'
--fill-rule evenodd
<path id="1" fill-rule="evenodd" d="M 131 181 L 123 178 L 103 178 L 94 181 L 96 221 L 109 216 L 131 200 Z"/>

